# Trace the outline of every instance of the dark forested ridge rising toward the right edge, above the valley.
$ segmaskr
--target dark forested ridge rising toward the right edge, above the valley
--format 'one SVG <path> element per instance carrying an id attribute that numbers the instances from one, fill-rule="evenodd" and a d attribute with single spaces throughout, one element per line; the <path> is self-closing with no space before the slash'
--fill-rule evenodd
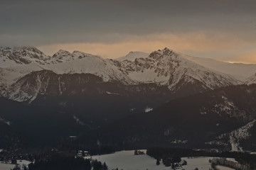
<path id="1" fill-rule="evenodd" d="M 255 92 L 255 84 L 238 85 L 177 98 L 85 133 L 78 143 L 255 150 Z"/>

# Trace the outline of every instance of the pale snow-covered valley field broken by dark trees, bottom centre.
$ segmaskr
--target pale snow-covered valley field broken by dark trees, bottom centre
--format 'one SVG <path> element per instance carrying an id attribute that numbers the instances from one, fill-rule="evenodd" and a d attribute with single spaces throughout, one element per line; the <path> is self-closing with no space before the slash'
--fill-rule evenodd
<path id="1" fill-rule="evenodd" d="M 142 150 L 146 153 L 146 150 Z M 90 158 L 90 157 L 85 157 Z M 134 155 L 134 150 L 115 152 L 114 154 L 104 154 L 100 156 L 93 156 L 92 159 L 97 159 L 100 162 L 106 162 L 109 169 L 123 169 L 123 170 L 167 170 L 171 167 L 166 167 L 164 164 L 159 166 L 156 165 L 156 159 L 149 157 L 146 154 Z M 188 164 L 183 166 L 183 169 L 193 170 L 208 170 L 210 168 L 209 159 L 212 157 L 183 157 Z M 231 170 L 225 169 L 226 167 L 221 166 L 220 170 Z"/>

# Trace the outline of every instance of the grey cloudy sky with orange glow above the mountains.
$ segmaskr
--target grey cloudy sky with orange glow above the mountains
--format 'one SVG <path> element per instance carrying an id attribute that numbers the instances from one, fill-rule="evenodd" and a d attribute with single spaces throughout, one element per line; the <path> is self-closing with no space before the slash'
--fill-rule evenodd
<path id="1" fill-rule="evenodd" d="M 255 0 L 1 0 L 0 45 L 107 58 L 169 47 L 256 63 Z"/>

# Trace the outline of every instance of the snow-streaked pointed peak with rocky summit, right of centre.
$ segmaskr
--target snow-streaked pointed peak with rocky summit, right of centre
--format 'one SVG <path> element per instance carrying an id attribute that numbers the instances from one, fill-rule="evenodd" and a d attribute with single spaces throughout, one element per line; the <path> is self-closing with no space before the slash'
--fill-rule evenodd
<path id="1" fill-rule="evenodd" d="M 137 58 L 134 62 L 124 60 L 121 65 L 120 69 L 134 81 L 168 85 L 172 91 L 183 84 L 196 84 L 196 82 L 201 82 L 204 89 L 240 83 L 228 74 L 213 72 L 168 48 L 154 51 L 149 57 Z"/>

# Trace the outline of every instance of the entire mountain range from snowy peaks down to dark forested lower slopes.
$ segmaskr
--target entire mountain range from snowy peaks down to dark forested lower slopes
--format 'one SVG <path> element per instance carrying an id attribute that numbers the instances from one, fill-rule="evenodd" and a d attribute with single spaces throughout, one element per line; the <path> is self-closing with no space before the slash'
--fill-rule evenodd
<path id="1" fill-rule="evenodd" d="M 95 143 L 97 129 L 105 145 L 118 147 L 150 140 L 151 146 L 239 150 L 255 127 L 255 84 L 256 64 L 168 48 L 112 60 L 78 51 L 59 50 L 50 57 L 36 47 L 0 47 L 2 126 L 14 130 L 15 139 L 26 136 L 51 145 L 69 135 Z M 241 128 L 247 134 L 242 140 L 236 135 Z M 253 143 L 249 148 L 256 149 Z"/>

